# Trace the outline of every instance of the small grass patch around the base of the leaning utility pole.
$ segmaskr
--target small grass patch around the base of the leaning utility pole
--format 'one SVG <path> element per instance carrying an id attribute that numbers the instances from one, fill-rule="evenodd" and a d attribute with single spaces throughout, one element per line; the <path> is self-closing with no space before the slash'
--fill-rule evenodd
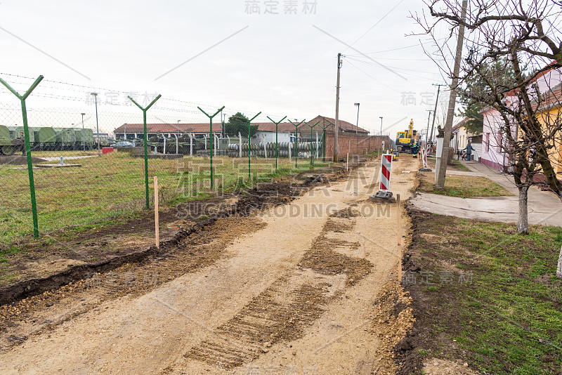
<path id="1" fill-rule="evenodd" d="M 448 175 L 445 177 L 445 188 L 441 190 L 435 185 L 435 173 L 421 173 L 418 191 L 459 198 L 502 197 L 511 195 L 502 185 L 481 176 Z"/>

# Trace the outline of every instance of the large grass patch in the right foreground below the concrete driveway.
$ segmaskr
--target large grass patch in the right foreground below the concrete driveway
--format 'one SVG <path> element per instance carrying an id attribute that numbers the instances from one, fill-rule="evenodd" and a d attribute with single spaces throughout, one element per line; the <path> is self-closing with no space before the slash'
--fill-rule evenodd
<path id="1" fill-rule="evenodd" d="M 417 228 L 446 239 L 421 236 L 411 249 L 439 286 L 407 287 L 424 322 L 424 349 L 484 374 L 561 374 L 561 228 L 533 226 L 523 236 L 510 224 L 429 214 Z M 440 279 L 445 272 L 452 282 Z"/>

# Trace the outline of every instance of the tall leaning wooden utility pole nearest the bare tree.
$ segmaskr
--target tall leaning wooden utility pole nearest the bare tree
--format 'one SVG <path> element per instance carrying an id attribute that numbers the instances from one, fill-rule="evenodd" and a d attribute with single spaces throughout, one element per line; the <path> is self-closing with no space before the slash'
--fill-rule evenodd
<path id="1" fill-rule="evenodd" d="M 466 18 L 466 3 L 462 1 L 461 20 Z M 445 174 L 447 174 L 447 161 L 449 160 L 449 146 L 451 142 L 452 119 L 455 116 L 455 104 L 457 103 L 457 85 L 459 84 L 459 71 L 461 68 L 462 44 L 464 41 L 464 24 L 459 27 L 459 39 L 457 40 L 457 55 L 455 56 L 455 67 L 453 67 L 453 78 L 449 96 L 449 107 L 447 110 L 447 122 L 445 122 L 445 133 L 443 134 L 443 150 L 441 151 L 441 162 L 438 169 L 437 188 L 445 187 Z M 437 171 L 436 171 L 437 173 Z"/>

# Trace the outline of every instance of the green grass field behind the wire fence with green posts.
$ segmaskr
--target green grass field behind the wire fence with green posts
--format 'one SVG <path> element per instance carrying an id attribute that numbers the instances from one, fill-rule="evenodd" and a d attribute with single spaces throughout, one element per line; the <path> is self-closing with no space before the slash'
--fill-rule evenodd
<path id="1" fill-rule="evenodd" d="M 59 156 L 60 152 L 43 152 L 33 156 Z M 95 152 L 97 155 L 97 152 Z M 70 225 L 88 225 L 131 215 L 145 207 L 144 159 L 112 152 L 101 157 L 67 161 L 79 168 L 34 169 L 39 232 L 48 233 Z M 53 162 L 50 162 L 53 163 Z M 214 190 L 229 192 L 296 171 L 311 168 L 306 159 L 252 159 L 251 181 L 248 181 L 248 159 L 214 158 Z M 325 166 L 315 163 L 316 166 Z M 27 168 L 0 166 L 0 246 L 32 236 L 32 206 Z M 209 192 L 209 159 L 184 157 L 177 160 L 149 159 L 150 201 L 153 199 L 153 177 L 158 177 L 160 204 L 174 206 L 179 202 L 211 196 Z M 151 203 L 152 204 L 152 203 Z"/>

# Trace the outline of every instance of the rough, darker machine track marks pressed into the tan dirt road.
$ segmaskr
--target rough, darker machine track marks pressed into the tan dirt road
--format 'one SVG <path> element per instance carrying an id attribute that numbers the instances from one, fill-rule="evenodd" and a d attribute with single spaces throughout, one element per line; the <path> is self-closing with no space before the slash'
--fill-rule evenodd
<path id="1" fill-rule="evenodd" d="M 355 284 L 370 272 L 372 264 L 362 258 L 350 258 L 334 251 L 356 249 L 358 243 L 327 239 L 329 232 L 351 230 L 354 216 L 351 208 L 342 209 L 328 219 L 296 267 L 277 279 L 231 320 L 214 331 L 214 340 L 202 341 L 185 355 L 222 369 L 231 369 L 251 362 L 278 341 L 300 338 L 304 329 L 318 319 L 325 305 L 339 296 L 344 286 Z M 341 277 L 338 277 L 341 275 Z M 335 285 L 334 285 L 335 284 Z"/>

